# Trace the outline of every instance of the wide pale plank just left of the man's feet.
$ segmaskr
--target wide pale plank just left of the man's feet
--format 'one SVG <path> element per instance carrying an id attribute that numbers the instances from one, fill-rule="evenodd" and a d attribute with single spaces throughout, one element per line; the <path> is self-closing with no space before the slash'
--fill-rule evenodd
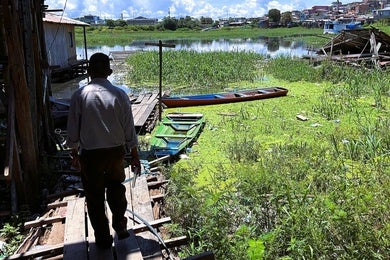
<path id="1" fill-rule="evenodd" d="M 85 234 L 85 198 L 68 201 L 65 221 L 64 259 L 88 259 Z"/>

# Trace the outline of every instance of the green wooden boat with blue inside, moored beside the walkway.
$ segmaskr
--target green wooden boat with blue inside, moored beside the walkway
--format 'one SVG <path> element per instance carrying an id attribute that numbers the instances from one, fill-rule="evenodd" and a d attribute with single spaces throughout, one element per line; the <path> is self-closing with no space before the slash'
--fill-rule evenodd
<path id="1" fill-rule="evenodd" d="M 205 124 L 200 113 L 169 113 L 155 129 L 150 140 L 156 157 L 175 156 L 198 138 Z"/>

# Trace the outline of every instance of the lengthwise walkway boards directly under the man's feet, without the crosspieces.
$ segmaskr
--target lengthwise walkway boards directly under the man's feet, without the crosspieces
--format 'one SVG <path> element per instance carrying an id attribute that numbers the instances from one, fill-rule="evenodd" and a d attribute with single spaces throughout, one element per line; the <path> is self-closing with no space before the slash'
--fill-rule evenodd
<path id="1" fill-rule="evenodd" d="M 131 180 L 132 173 L 126 168 L 127 180 Z M 148 223 L 155 223 L 151 199 L 146 176 L 137 178 L 135 186 L 131 187 L 131 181 L 125 182 L 128 208 Z M 107 216 L 111 223 L 111 212 L 106 205 Z M 130 212 L 126 215 L 133 219 Z M 163 224 L 164 222 L 160 223 Z M 155 223 L 156 224 L 156 223 Z M 110 249 L 99 249 L 95 244 L 94 232 L 91 227 L 84 197 L 78 197 L 68 202 L 65 220 L 64 252 L 63 259 L 163 259 L 160 243 L 150 231 L 144 231 L 135 221 L 128 221 L 127 226 L 130 237 L 118 240 L 115 231 L 113 246 Z"/>

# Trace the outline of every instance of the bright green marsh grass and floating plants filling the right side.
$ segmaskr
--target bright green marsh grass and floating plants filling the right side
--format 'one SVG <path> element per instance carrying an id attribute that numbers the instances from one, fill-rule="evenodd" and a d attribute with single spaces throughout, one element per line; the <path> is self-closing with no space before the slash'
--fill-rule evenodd
<path id="1" fill-rule="evenodd" d="M 205 59 L 197 55 L 191 53 L 195 67 Z M 246 76 L 228 85 L 283 86 L 288 95 L 164 111 L 203 113 L 207 121 L 189 159 L 167 172 L 166 210 L 176 223 L 170 230 L 190 238 L 181 256 L 212 250 L 217 259 L 385 258 L 388 74 L 327 63 L 314 68 L 286 57 L 253 63 L 235 66 L 235 75 Z M 174 66 L 166 73 L 182 75 Z M 214 80 L 212 73 L 196 75 L 198 83 Z M 186 78 L 178 82 L 183 91 Z"/>

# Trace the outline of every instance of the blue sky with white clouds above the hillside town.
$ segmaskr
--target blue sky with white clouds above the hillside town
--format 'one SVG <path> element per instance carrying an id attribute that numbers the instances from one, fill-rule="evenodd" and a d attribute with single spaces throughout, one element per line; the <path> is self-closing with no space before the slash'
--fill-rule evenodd
<path id="1" fill-rule="evenodd" d="M 101 19 L 131 19 L 139 16 L 171 17 L 261 17 L 270 9 L 281 12 L 329 6 L 337 0 L 45 0 L 48 9 L 62 9 L 69 18 L 96 15 Z M 343 4 L 353 0 L 339 0 Z M 356 2 L 356 1 L 355 1 Z M 57 12 L 61 15 L 62 12 Z"/>

